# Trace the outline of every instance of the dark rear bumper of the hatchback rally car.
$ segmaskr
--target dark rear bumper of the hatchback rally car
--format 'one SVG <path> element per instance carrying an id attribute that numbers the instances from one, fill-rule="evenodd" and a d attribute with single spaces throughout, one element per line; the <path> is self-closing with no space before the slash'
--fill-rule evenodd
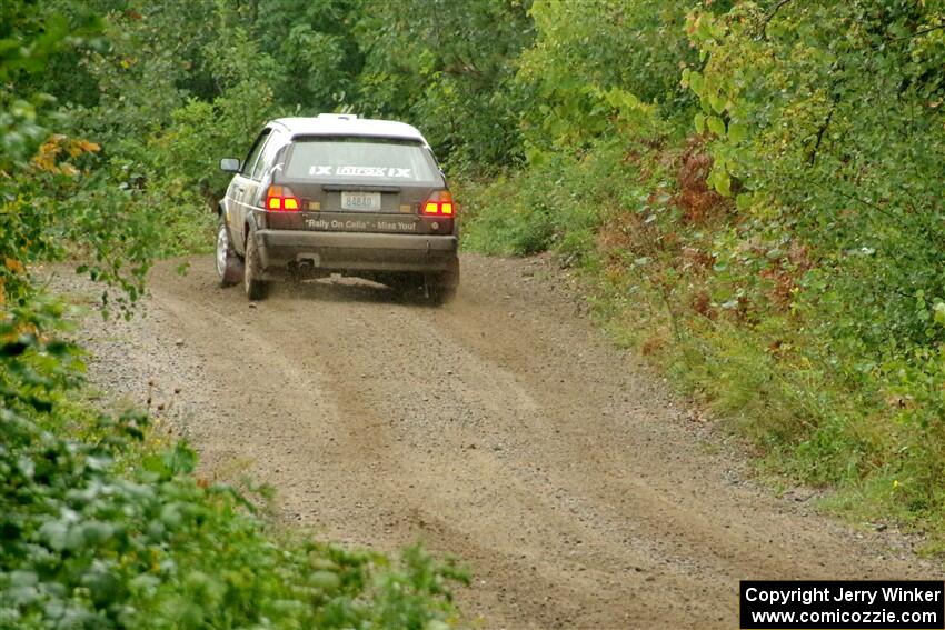
<path id="1" fill-rule="evenodd" d="M 459 244 L 454 236 L 302 230 L 255 234 L 263 269 L 276 273 L 299 261 L 326 271 L 442 271 L 456 260 Z"/>

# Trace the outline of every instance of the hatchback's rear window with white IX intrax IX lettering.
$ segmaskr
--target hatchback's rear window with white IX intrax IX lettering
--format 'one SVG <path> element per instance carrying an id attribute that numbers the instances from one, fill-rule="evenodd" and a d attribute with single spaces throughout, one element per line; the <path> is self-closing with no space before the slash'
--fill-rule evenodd
<path id="1" fill-rule="evenodd" d="M 442 177 L 419 142 L 387 138 L 296 139 L 285 166 L 290 180 L 439 186 Z"/>

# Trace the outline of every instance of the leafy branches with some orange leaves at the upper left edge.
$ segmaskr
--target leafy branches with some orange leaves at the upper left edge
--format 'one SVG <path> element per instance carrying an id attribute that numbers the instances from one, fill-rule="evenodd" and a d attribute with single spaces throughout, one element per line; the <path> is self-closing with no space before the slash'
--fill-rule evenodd
<path id="1" fill-rule="evenodd" d="M 62 257 L 74 244 L 93 277 L 122 289 L 118 302 L 127 307 L 140 293 L 153 253 L 151 221 L 129 191 L 105 184 L 111 178 L 97 171 L 99 144 L 50 132 L 64 114 L 52 109 L 54 97 L 38 91 L 43 62 L 90 44 L 101 24 L 86 14 L 69 32 L 63 14 L 27 7 L 4 4 L 10 52 L 0 58 L 0 76 L 11 82 L 0 84 L 0 304 L 28 302 L 28 266 Z"/>

